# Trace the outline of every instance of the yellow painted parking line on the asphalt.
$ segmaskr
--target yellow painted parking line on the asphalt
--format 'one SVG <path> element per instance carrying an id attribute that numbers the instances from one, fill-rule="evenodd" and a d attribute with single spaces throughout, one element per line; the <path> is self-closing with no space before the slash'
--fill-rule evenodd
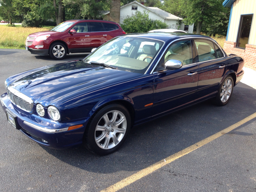
<path id="1" fill-rule="evenodd" d="M 117 182 L 116 184 L 102 190 L 101 192 L 115 192 L 115 191 L 118 191 L 126 186 L 128 186 L 129 184 L 139 180 L 140 178 L 144 177 L 144 176 L 147 176 L 148 174 L 158 170 L 159 168 L 162 168 L 163 166 L 165 166 L 166 164 L 170 163 L 170 162 L 173 162 L 174 160 L 198 149 L 199 147 L 213 141 L 214 139 L 234 130 L 235 128 L 239 127 L 240 125 L 252 120 L 253 118 L 256 117 L 256 113 L 244 118 L 243 120 L 237 122 L 236 124 L 233 124 L 232 126 L 200 141 L 200 142 L 197 142 L 196 144 L 192 145 L 192 146 L 189 146 L 188 148 L 180 151 L 180 152 L 177 152 L 176 154 L 173 154 L 163 160 L 160 160 L 159 162 L 147 167 L 147 168 L 144 168 L 142 170 L 140 170 L 139 172 L 121 180 L 120 182 Z"/>

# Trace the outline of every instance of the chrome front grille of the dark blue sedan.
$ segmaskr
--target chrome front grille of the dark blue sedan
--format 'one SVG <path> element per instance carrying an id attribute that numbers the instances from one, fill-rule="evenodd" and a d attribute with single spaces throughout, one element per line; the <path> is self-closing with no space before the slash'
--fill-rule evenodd
<path id="1" fill-rule="evenodd" d="M 18 108 L 29 113 L 33 112 L 34 104 L 31 98 L 12 87 L 7 88 L 7 94 L 11 102 L 15 104 Z"/>

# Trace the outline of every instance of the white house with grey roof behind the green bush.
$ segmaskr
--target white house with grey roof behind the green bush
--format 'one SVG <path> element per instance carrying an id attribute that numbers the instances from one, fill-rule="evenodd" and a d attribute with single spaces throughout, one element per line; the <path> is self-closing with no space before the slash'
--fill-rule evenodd
<path id="1" fill-rule="evenodd" d="M 170 14 L 157 7 L 146 7 L 137 1 L 130 2 L 120 8 L 120 24 L 124 22 L 124 19 L 126 17 L 135 14 L 136 11 L 148 12 L 148 16 L 151 20 L 160 20 L 162 22 L 165 22 L 168 25 L 169 29 L 179 29 L 184 30 L 188 33 L 193 33 L 194 24 L 190 26 L 185 26 L 184 24 L 181 24 L 179 26 L 178 21 L 182 21 L 182 18 Z M 109 20 L 109 11 L 104 13 L 104 20 Z"/>

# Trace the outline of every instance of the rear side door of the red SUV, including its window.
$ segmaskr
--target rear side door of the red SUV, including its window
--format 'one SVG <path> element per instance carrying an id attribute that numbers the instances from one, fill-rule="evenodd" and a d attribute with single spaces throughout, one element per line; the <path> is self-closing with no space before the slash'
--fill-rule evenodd
<path id="1" fill-rule="evenodd" d="M 101 22 L 89 22 L 91 47 L 96 48 L 107 42 L 107 33 L 104 31 Z"/>

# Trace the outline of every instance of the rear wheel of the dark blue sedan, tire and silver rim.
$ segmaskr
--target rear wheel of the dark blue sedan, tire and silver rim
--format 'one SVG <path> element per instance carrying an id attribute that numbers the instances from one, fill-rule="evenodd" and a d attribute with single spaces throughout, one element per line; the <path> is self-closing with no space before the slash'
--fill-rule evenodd
<path id="1" fill-rule="evenodd" d="M 230 83 L 227 86 L 227 82 L 232 83 L 232 85 L 229 89 L 228 89 L 228 87 L 230 86 Z M 220 87 L 218 88 L 218 93 L 215 98 L 215 104 L 218 106 L 226 105 L 232 96 L 233 88 L 234 88 L 234 80 L 233 80 L 232 76 L 229 75 L 224 79 L 224 81 L 220 84 Z M 225 96 L 226 96 L 226 98 L 225 98 Z"/>

